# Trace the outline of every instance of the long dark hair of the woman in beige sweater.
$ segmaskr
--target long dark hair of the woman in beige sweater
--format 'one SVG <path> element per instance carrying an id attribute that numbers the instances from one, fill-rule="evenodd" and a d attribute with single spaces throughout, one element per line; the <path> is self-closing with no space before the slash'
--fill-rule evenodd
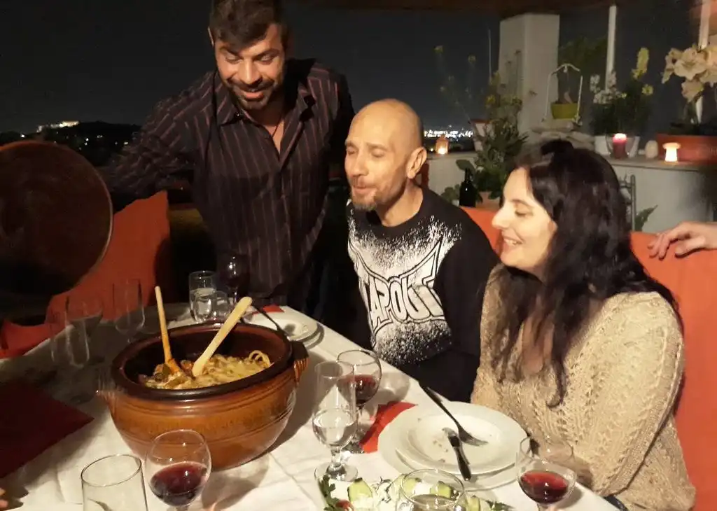
<path id="1" fill-rule="evenodd" d="M 549 406 L 554 407 L 566 393 L 566 355 L 596 312 L 595 304 L 622 292 L 657 292 L 678 320 L 680 316 L 672 293 L 645 272 L 632 252 L 625 196 L 602 156 L 556 140 L 542 145 L 537 154 L 521 156 L 517 164 L 528 171 L 533 196 L 557 228 L 542 281 L 517 268 L 498 271 L 503 312 L 496 318 L 493 338 L 502 341 L 493 346 L 492 366 L 500 366 L 503 381 L 521 325 L 530 318 L 531 340 L 537 345 L 552 335 L 550 365 L 557 392 Z M 515 377 L 523 378 L 520 368 Z"/>

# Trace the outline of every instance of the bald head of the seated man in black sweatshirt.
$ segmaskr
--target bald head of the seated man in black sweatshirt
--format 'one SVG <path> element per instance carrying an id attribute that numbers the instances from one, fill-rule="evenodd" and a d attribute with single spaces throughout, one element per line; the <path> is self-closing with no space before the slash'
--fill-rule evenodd
<path id="1" fill-rule="evenodd" d="M 346 138 L 346 176 L 359 209 L 393 204 L 426 161 L 423 128 L 414 110 L 399 100 L 366 105 Z"/>

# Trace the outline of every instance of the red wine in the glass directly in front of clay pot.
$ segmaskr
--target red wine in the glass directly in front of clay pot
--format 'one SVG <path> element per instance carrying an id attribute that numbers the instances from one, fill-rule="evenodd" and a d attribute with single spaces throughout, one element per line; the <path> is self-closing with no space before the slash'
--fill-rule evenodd
<path id="1" fill-rule="evenodd" d="M 196 462 L 168 465 L 152 476 L 149 487 L 166 505 L 186 506 L 204 487 L 206 472 L 206 466 Z"/>

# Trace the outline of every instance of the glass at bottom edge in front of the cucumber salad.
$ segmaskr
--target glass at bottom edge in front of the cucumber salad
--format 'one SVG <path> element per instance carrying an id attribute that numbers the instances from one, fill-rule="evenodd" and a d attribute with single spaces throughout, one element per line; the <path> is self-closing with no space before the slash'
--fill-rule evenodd
<path id="1" fill-rule="evenodd" d="M 453 474 L 436 469 L 416 470 L 401 482 L 396 511 L 462 511 L 465 488 Z"/>

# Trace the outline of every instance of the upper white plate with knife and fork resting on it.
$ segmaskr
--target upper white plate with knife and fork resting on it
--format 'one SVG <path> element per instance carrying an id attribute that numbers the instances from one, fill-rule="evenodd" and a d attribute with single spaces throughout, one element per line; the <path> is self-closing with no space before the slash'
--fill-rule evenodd
<path id="1" fill-rule="evenodd" d="M 518 445 L 525 431 L 508 416 L 470 403 L 444 402 L 458 422 L 478 439 L 482 446 L 462 444 L 463 454 L 473 474 L 488 474 L 510 467 L 516 462 Z M 392 422 L 397 429 L 397 451 L 414 464 L 460 474 L 458 462 L 443 432 L 456 430 L 455 424 L 435 404 L 414 406 Z"/>

